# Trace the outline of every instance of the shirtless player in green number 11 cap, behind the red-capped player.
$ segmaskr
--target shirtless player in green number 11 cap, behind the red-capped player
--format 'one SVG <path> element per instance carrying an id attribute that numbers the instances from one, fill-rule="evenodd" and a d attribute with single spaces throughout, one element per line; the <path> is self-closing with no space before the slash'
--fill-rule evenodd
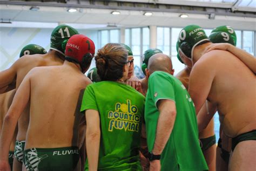
<path id="1" fill-rule="evenodd" d="M 64 31 L 65 30 L 65 31 Z M 64 35 L 61 32 L 64 31 Z M 15 61 L 9 69 L 0 72 L 0 93 L 6 92 L 13 88 L 19 87 L 26 74 L 37 66 L 54 66 L 62 65 L 64 62 L 64 51 L 65 46 L 63 44 L 68 41 L 70 36 L 78 34 L 76 29 L 68 25 L 57 26 L 51 34 L 51 47 L 50 51 L 46 54 L 33 54 L 24 51 L 21 53 L 22 58 Z M 16 86 L 12 86 L 16 84 Z M 18 121 L 18 133 L 17 141 L 15 145 L 15 159 L 14 159 L 14 170 L 22 169 L 23 161 L 23 149 L 25 146 L 26 130 L 29 124 L 29 108 L 26 106 L 23 110 L 23 114 Z"/>

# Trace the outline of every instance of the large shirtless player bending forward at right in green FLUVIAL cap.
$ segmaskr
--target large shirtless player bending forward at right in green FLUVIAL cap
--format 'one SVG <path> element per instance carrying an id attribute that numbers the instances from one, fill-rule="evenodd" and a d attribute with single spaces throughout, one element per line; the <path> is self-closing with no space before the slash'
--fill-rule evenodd
<path id="1" fill-rule="evenodd" d="M 189 29 L 188 29 L 189 28 Z M 217 106 L 224 133 L 232 138 L 230 170 L 254 170 L 256 167 L 255 74 L 228 51 L 206 47 L 212 43 L 197 25 L 186 26 L 179 35 L 182 60 L 193 66 L 188 92 L 198 113 L 205 100 Z M 213 114 L 198 118 L 199 131 Z"/>

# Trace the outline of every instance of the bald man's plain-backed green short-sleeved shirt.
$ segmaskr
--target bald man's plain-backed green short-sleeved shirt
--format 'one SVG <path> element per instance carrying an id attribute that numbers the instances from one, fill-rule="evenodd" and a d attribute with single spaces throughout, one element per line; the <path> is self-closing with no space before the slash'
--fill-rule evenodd
<path id="1" fill-rule="evenodd" d="M 198 139 L 198 127 L 193 101 L 184 85 L 171 74 L 156 71 L 149 78 L 145 102 L 147 146 L 151 152 L 156 138 L 160 99 L 176 103 L 176 120 L 173 130 L 161 154 L 161 170 L 207 170 Z"/>

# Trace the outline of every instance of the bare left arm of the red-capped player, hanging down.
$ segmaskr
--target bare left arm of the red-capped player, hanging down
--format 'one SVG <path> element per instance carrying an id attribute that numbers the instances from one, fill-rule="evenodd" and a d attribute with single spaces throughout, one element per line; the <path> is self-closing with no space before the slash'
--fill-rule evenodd
<path id="1" fill-rule="evenodd" d="M 22 111 L 28 104 L 30 99 L 30 77 L 25 77 L 19 86 L 14 100 L 9 108 L 8 113 L 4 118 L 1 141 L 0 141 L 0 160 L 8 161 L 8 153 L 12 137 L 14 136 L 15 127 Z"/>

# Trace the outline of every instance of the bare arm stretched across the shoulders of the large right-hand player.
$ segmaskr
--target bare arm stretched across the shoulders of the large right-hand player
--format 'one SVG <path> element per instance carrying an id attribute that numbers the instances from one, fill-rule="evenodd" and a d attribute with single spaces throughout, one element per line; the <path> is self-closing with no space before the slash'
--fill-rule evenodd
<path id="1" fill-rule="evenodd" d="M 253 57 L 250 53 L 245 50 L 239 49 L 229 43 L 215 43 L 206 47 L 207 51 L 211 51 L 214 49 L 227 50 L 234 54 L 234 56 L 238 57 L 254 74 L 256 74 L 256 58 Z"/>

